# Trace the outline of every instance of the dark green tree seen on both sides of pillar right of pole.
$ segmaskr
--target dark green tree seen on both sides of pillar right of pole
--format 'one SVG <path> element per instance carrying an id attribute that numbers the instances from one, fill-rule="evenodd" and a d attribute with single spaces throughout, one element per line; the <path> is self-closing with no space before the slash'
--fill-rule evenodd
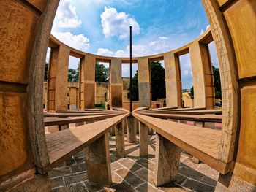
<path id="1" fill-rule="evenodd" d="M 151 90 L 152 99 L 165 98 L 165 69 L 162 67 L 159 61 L 151 62 Z M 138 71 L 135 73 L 135 77 L 132 78 L 132 101 L 138 101 Z"/>

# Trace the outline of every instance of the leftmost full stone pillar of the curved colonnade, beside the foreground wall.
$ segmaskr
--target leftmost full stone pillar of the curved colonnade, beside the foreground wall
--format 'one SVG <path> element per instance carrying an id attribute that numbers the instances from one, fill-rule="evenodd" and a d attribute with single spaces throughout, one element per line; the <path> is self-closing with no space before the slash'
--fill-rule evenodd
<path id="1" fill-rule="evenodd" d="M 52 48 L 48 66 L 48 112 L 67 110 L 67 73 L 70 50 L 65 45 Z"/>

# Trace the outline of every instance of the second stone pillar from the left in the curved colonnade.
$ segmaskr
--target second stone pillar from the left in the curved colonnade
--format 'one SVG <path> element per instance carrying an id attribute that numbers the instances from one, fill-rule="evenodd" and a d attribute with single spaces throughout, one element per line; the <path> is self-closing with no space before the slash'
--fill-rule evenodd
<path id="1" fill-rule="evenodd" d="M 80 108 L 93 109 L 95 107 L 95 63 L 93 55 L 86 54 L 80 63 Z"/>

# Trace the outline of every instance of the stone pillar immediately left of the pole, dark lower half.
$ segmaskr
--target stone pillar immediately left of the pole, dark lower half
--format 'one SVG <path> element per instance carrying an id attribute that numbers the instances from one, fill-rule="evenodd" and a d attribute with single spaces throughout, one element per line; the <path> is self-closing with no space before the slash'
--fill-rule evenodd
<path id="1" fill-rule="evenodd" d="M 122 93 L 121 59 L 113 58 L 110 64 L 110 107 L 123 107 Z"/>

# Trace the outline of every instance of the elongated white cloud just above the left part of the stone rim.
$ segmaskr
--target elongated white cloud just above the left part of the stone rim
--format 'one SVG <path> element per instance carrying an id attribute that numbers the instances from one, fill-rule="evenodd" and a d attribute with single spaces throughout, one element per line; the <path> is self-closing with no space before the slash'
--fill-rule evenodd
<path id="1" fill-rule="evenodd" d="M 59 39 L 61 42 L 69 45 L 78 50 L 86 50 L 90 47 L 89 39 L 83 34 L 72 34 L 70 32 L 56 32 L 53 31 L 53 36 Z"/>

